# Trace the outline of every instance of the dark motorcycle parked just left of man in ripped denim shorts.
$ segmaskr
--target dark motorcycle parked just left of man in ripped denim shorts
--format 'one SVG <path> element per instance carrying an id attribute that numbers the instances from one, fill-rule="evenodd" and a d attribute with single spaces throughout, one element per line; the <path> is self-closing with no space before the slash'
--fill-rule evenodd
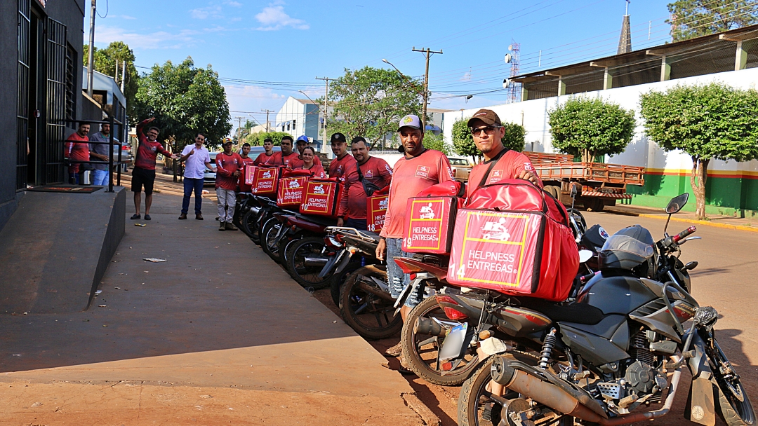
<path id="1" fill-rule="evenodd" d="M 377 262 L 379 235 L 337 226 L 327 228 L 327 232 L 324 240 L 335 253 L 321 275 L 332 275 L 332 298 L 337 296 L 336 304 L 346 324 L 369 340 L 397 334 L 402 328 L 402 318 L 393 312 L 387 268 L 367 265 L 369 261 Z"/>

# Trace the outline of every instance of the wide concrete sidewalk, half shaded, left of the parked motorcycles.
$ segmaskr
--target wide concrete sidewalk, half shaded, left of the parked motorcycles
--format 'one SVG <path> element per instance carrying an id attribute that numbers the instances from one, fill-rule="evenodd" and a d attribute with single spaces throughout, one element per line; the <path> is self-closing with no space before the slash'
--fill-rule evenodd
<path id="1" fill-rule="evenodd" d="M 211 205 L 178 221 L 180 203 L 155 194 L 146 227 L 127 220 L 89 311 L 0 316 L 0 424 L 434 422 L 365 340 L 218 232 Z"/>

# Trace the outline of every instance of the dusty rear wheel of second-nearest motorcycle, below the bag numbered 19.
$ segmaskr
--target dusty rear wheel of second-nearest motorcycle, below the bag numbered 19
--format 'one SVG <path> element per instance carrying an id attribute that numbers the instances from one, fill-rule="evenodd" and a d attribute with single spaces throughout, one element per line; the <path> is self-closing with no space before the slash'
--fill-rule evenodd
<path id="1" fill-rule="evenodd" d="M 406 356 L 411 370 L 432 384 L 442 386 L 459 386 L 466 379 L 471 377 L 478 365 L 481 364 L 476 348 L 468 348 L 459 368 L 454 372 L 446 372 L 442 375 L 440 365 L 437 364 L 437 353 L 445 341 L 444 337 L 434 337 L 431 335 L 415 334 L 415 324 L 419 318 L 436 317 L 443 321 L 449 322 L 437 299 L 427 297 L 418 306 L 408 314 L 406 326 L 402 328 L 400 343 L 402 344 L 402 353 Z"/>

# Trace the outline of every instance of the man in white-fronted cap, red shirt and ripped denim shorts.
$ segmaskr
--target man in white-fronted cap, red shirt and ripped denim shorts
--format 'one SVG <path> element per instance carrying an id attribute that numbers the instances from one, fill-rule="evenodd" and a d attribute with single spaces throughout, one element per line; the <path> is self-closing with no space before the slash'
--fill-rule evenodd
<path id="1" fill-rule="evenodd" d="M 390 183 L 389 206 L 384 216 L 384 228 L 377 247 L 377 258 L 384 260 L 387 251 L 387 278 L 390 280 L 390 293 L 394 298 L 399 297 L 403 288 L 410 284 L 409 275 L 393 259 L 395 257 L 411 257 L 402 251 L 402 226 L 406 220 L 408 199 L 415 197 L 420 191 L 441 182 L 453 180 L 453 170 L 445 154 L 424 148 L 424 128 L 421 120 L 415 115 L 402 117 L 399 123 L 400 142 L 406 150 L 405 157 L 397 160 Z M 405 321 L 408 313 L 421 302 L 424 289 L 419 287 L 415 294 L 410 294 L 400 315 Z M 399 355 L 398 347 L 391 347 L 387 355 Z"/>

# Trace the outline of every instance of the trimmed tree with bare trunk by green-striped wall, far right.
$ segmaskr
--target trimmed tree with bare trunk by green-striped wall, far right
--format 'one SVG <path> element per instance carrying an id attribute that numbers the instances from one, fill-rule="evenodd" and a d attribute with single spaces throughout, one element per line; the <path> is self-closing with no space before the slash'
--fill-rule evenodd
<path id="1" fill-rule="evenodd" d="M 645 93 L 640 104 L 647 136 L 666 151 L 681 150 L 691 157 L 695 212 L 703 219 L 710 160 L 758 158 L 758 92 L 717 82 L 678 85 Z"/>

